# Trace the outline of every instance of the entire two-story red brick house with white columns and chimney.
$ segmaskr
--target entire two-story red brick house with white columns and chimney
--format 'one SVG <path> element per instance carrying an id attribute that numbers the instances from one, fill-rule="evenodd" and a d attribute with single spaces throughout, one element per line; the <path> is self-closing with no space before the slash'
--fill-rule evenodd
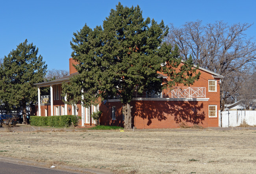
<path id="1" fill-rule="evenodd" d="M 81 104 L 72 106 L 64 104 L 61 98 L 61 83 L 68 82 L 69 78 L 75 75 L 76 69 L 72 64 L 76 64 L 69 59 L 70 75 L 54 81 L 37 83 L 39 95 L 39 116 L 48 115 L 78 115 L 81 116 L 80 125 L 93 124 L 91 113 L 97 110 L 103 112 L 100 124 L 123 126 L 124 117 L 122 106 L 118 98 L 107 100 L 98 106 L 83 107 Z M 131 102 L 132 127 L 138 129 L 147 128 L 177 128 L 180 124 L 192 126 L 198 124 L 203 127 L 219 126 L 218 110 L 220 109 L 220 88 L 219 84 L 224 76 L 211 72 L 204 68 L 198 68 L 201 75 L 190 87 L 177 86 L 172 89 L 163 90 L 160 94 L 144 93 L 135 94 Z M 160 73 L 159 73 L 160 74 Z M 160 74 L 164 80 L 169 80 L 165 74 Z M 44 103 L 44 98 L 40 96 L 40 87 L 51 87 L 51 102 Z M 49 101 L 48 100 L 48 101 Z M 65 100 L 65 98 L 64 98 Z M 42 102 L 43 101 L 43 102 Z"/>

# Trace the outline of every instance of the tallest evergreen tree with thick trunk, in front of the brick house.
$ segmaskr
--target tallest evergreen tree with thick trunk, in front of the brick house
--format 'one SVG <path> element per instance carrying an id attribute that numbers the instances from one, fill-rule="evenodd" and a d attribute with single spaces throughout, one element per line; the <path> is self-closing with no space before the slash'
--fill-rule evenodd
<path id="1" fill-rule="evenodd" d="M 85 24 L 74 33 L 71 56 L 79 63 L 76 66 L 79 75 L 69 84 L 63 84 L 63 96 L 67 94 L 71 104 L 81 101 L 83 95 L 83 104 L 89 106 L 99 97 L 106 100 L 118 95 L 124 104 L 124 127 L 131 128 L 132 96 L 135 91 L 161 91 L 162 79 L 157 73 L 162 70 L 161 63 L 167 62 L 163 70 L 172 76 L 172 83 L 189 85 L 185 78 L 190 75 L 187 72 L 191 71 L 191 62 L 179 73 L 175 73 L 174 68 L 166 68 L 181 61 L 178 49 L 171 51 L 170 45 L 161 45 L 167 32 L 163 21 L 158 24 L 154 19 L 144 20 L 139 6 L 129 8 L 119 3 L 103 21 L 103 29 L 96 26 L 92 30 Z M 192 78 L 195 79 L 192 76 L 187 79 Z"/>

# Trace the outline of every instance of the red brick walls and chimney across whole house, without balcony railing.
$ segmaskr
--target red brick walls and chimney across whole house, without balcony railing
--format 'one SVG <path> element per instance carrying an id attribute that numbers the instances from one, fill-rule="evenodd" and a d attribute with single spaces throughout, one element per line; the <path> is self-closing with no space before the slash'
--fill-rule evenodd
<path id="1" fill-rule="evenodd" d="M 69 59 L 70 74 L 76 71 L 74 65 L 78 63 L 72 58 Z M 203 127 L 217 127 L 219 126 L 219 115 L 218 110 L 220 109 L 220 76 L 213 72 L 204 70 L 203 68 L 198 69 L 197 72 L 201 72 L 198 81 L 195 81 L 190 87 L 205 88 L 204 97 L 191 97 L 191 98 L 175 98 L 169 96 L 168 90 L 163 90 L 161 98 L 135 98 L 131 101 L 132 106 L 132 127 L 138 129 L 151 129 L 151 128 L 178 128 L 181 124 L 192 126 L 198 124 Z M 162 74 L 165 76 L 165 74 Z M 219 75 L 219 76 L 218 76 Z M 170 80 L 170 79 L 165 79 Z M 216 92 L 208 91 L 208 80 L 215 80 Z M 65 104 L 61 97 L 61 81 L 57 83 L 44 82 L 38 83 L 40 87 L 47 87 L 52 85 L 53 87 L 53 115 L 63 115 L 63 109 Z M 59 86 L 59 90 L 56 87 Z M 178 87 L 184 87 L 179 85 Z M 56 91 L 58 91 L 58 97 L 56 98 Z M 57 100 L 58 99 L 58 100 Z M 217 106 L 216 116 L 209 117 L 209 105 Z M 76 105 L 78 107 L 77 115 L 82 117 L 82 121 L 79 125 L 93 124 L 90 114 L 94 111 L 93 106 L 91 109 L 86 109 L 81 104 Z M 65 115 L 74 114 L 74 108 L 76 106 L 67 105 L 67 113 Z M 112 119 L 112 107 L 115 108 L 115 119 Z M 108 100 L 105 104 L 99 104 L 99 110 L 102 111 L 102 117 L 100 118 L 100 124 L 102 125 L 113 125 L 113 126 L 124 126 L 123 115 L 122 115 L 123 104 L 120 100 Z M 69 110 L 70 108 L 70 110 Z M 56 111 L 58 109 L 58 112 Z M 45 113 L 47 112 L 47 114 Z M 38 115 L 38 114 L 37 114 Z M 51 106 L 50 104 L 41 104 L 41 116 L 50 116 Z"/>

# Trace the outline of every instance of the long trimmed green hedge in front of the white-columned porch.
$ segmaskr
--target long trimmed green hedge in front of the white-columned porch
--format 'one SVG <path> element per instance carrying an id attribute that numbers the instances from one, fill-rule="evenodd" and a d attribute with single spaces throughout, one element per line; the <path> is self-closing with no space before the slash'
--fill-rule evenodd
<path id="1" fill-rule="evenodd" d="M 74 126 L 78 124 L 78 117 L 76 115 L 59 115 L 59 116 L 49 116 L 49 117 L 38 117 L 30 116 L 31 126 L 51 126 L 51 127 L 64 127 Z"/>

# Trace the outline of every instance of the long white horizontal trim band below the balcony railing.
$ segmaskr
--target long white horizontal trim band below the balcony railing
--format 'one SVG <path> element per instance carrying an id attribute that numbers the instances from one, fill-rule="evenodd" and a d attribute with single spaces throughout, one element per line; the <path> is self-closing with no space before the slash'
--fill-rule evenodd
<path id="1" fill-rule="evenodd" d="M 137 101 L 208 101 L 210 98 L 133 98 Z M 107 102 L 121 102 L 120 99 L 111 99 Z"/>

